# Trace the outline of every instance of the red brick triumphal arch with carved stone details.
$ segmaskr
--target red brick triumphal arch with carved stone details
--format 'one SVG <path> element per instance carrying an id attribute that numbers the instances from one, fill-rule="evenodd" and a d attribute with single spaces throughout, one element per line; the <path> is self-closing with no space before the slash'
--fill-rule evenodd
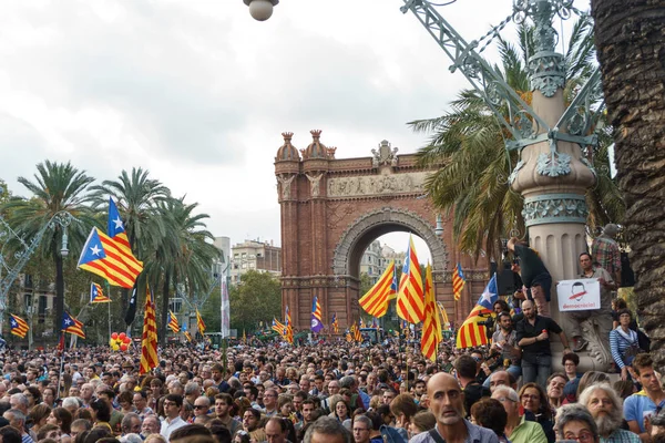
<path id="1" fill-rule="evenodd" d="M 311 143 L 298 151 L 291 144 L 294 134 L 283 133 L 284 145 L 275 157 L 282 303 L 289 307 L 294 328 L 309 328 L 315 296 L 326 326 L 334 312 L 341 330 L 358 320 L 360 258 L 371 241 L 391 231 L 412 233 L 426 241 L 437 300 L 451 320 L 463 321 L 489 279 L 488 265 L 484 260 L 475 265 L 454 248 L 446 217 L 443 234 L 436 234 L 437 213 L 423 189 L 431 171 L 419 167 L 416 155 L 398 154 L 387 141 L 368 148 L 367 157 L 336 158 L 336 148 L 321 143 L 320 131 L 310 134 Z M 467 285 L 456 302 L 451 280 L 458 261 Z"/>

